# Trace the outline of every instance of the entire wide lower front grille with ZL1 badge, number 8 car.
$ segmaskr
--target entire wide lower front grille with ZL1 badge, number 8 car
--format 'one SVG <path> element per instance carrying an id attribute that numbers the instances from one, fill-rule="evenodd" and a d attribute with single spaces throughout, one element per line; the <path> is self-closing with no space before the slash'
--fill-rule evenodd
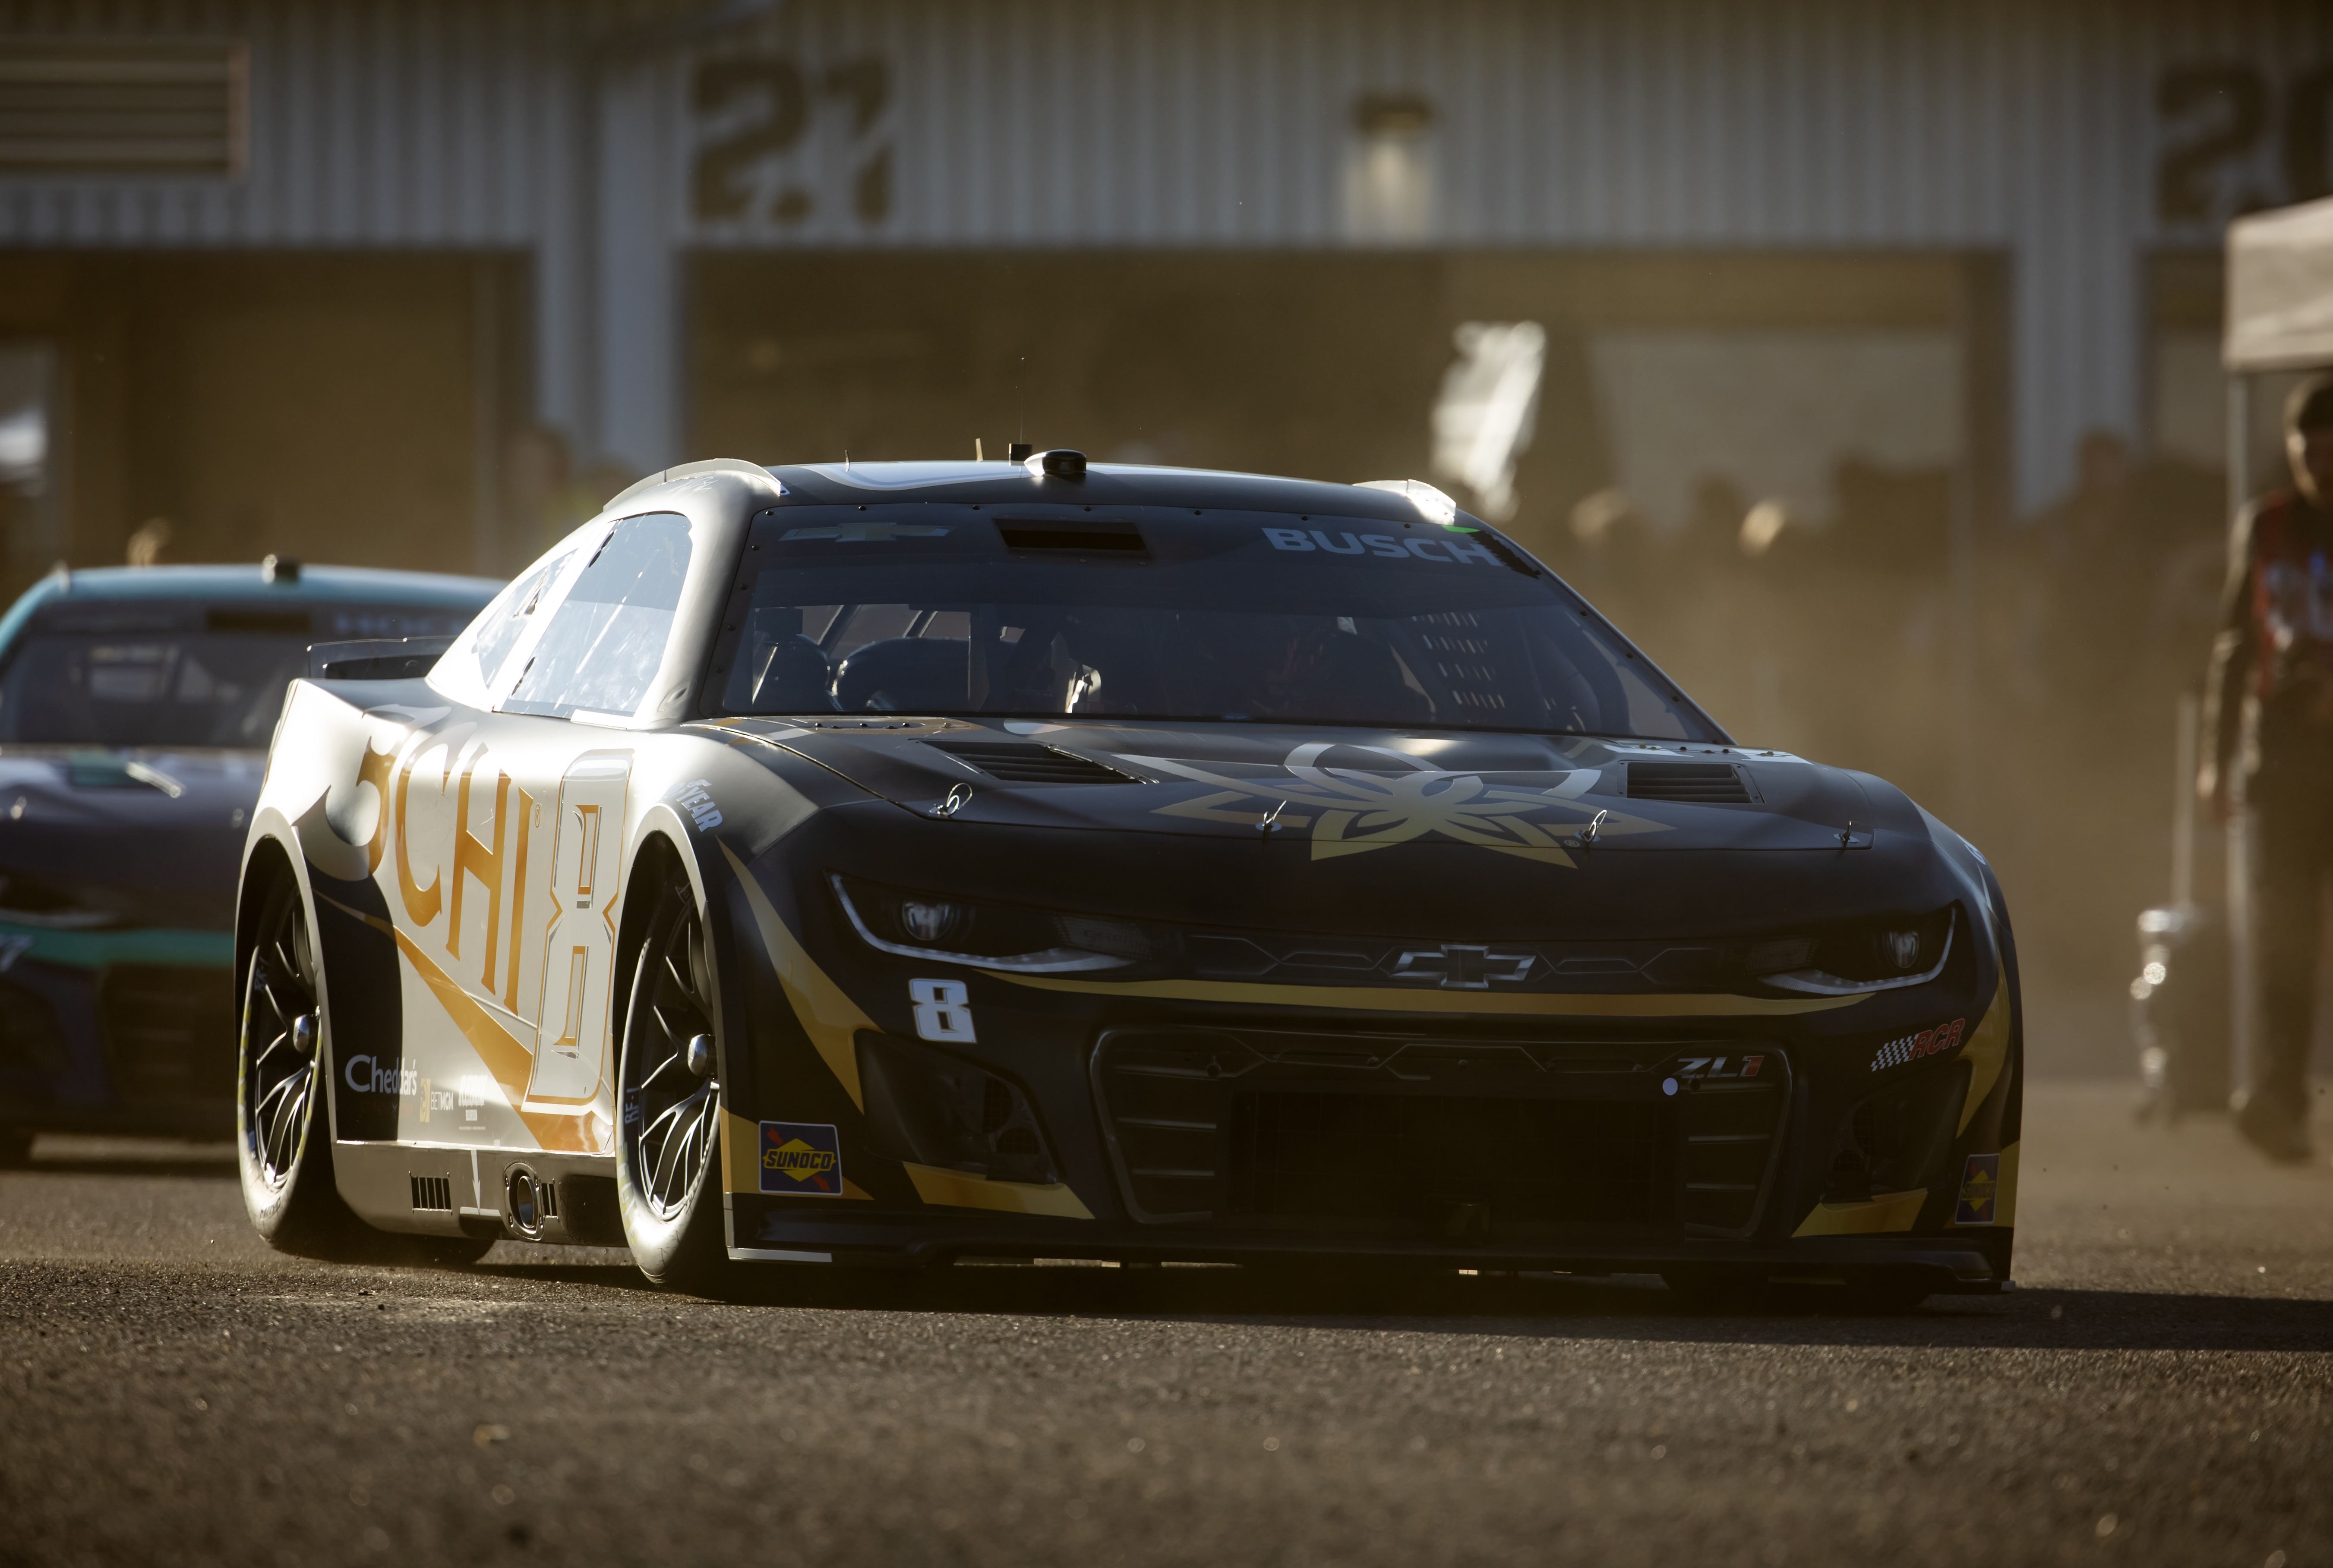
<path id="1" fill-rule="evenodd" d="M 1747 1234 L 1789 1062 L 1740 1045 L 1113 1029 L 1094 1090 L 1143 1225 Z"/>

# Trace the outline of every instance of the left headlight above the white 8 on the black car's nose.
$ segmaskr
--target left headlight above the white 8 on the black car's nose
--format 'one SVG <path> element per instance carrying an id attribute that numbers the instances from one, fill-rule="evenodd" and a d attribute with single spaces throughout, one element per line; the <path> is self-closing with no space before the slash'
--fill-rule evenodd
<path id="1" fill-rule="evenodd" d="M 833 887 L 868 947 L 908 959 L 1064 975 L 1125 968 L 1153 954 L 1150 936 L 1125 919 L 971 903 L 856 877 L 833 877 Z"/>

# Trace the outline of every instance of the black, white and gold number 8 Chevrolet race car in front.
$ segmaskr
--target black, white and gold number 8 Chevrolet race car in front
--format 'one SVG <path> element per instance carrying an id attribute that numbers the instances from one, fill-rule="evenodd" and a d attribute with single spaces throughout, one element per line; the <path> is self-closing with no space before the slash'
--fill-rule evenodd
<path id="1" fill-rule="evenodd" d="M 294 1251 L 2009 1281 L 1983 856 L 1414 481 L 653 476 L 292 686 L 236 931 Z"/>

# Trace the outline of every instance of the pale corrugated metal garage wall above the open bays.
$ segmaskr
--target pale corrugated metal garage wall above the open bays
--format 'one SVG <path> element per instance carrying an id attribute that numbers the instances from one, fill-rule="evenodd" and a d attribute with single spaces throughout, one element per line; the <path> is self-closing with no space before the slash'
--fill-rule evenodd
<path id="1" fill-rule="evenodd" d="M 19 0 L 0 37 L 247 40 L 252 156 L 233 184 L 0 182 L 0 245 L 534 247 L 548 411 L 581 397 L 653 462 L 677 348 L 642 289 L 670 294 L 677 245 L 1341 245 L 1353 98 L 1416 91 L 1423 243 L 2011 252 L 2030 504 L 2083 429 L 2137 427 L 2144 247 L 2216 243 L 2223 212 L 2156 212 L 2165 68 L 2251 61 L 2282 91 L 2333 61 L 2333 7 L 2270 0 L 793 0 L 709 54 L 810 84 L 807 131 L 756 170 L 807 210 L 700 224 L 721 128 L 693 61 L 625 54 L 579 271 L 579 58 L 607 26 L 555 0 Z M 889 72 L 870 124 L 819 91 L 863 58 Z M 2275 194 L 2277 138 L 2212 173 L 2221 205 Z"/>

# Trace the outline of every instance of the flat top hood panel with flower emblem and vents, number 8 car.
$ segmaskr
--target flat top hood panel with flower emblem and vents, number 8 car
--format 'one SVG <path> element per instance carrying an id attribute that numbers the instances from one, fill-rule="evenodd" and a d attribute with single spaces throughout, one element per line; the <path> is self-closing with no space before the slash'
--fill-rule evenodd
<path id="1" fill-rule="evenodd" d="M 1568 866 L 1582 852 L 1836 854 L 1869 847 L 1880 828 L 1925 835 L 1918 807 L 1869 775 L 1698 742 L 1260 723 L 726 728 L 952 821 L 1253 840 L 1269 819 L 1269 833 L 1309 840 L 1316 859 L 1442 838 Z M 1680 765 L 1696 772 L 1680 779 Z M 1694 798 L 1717 793 L 1736 798 Z"/>

